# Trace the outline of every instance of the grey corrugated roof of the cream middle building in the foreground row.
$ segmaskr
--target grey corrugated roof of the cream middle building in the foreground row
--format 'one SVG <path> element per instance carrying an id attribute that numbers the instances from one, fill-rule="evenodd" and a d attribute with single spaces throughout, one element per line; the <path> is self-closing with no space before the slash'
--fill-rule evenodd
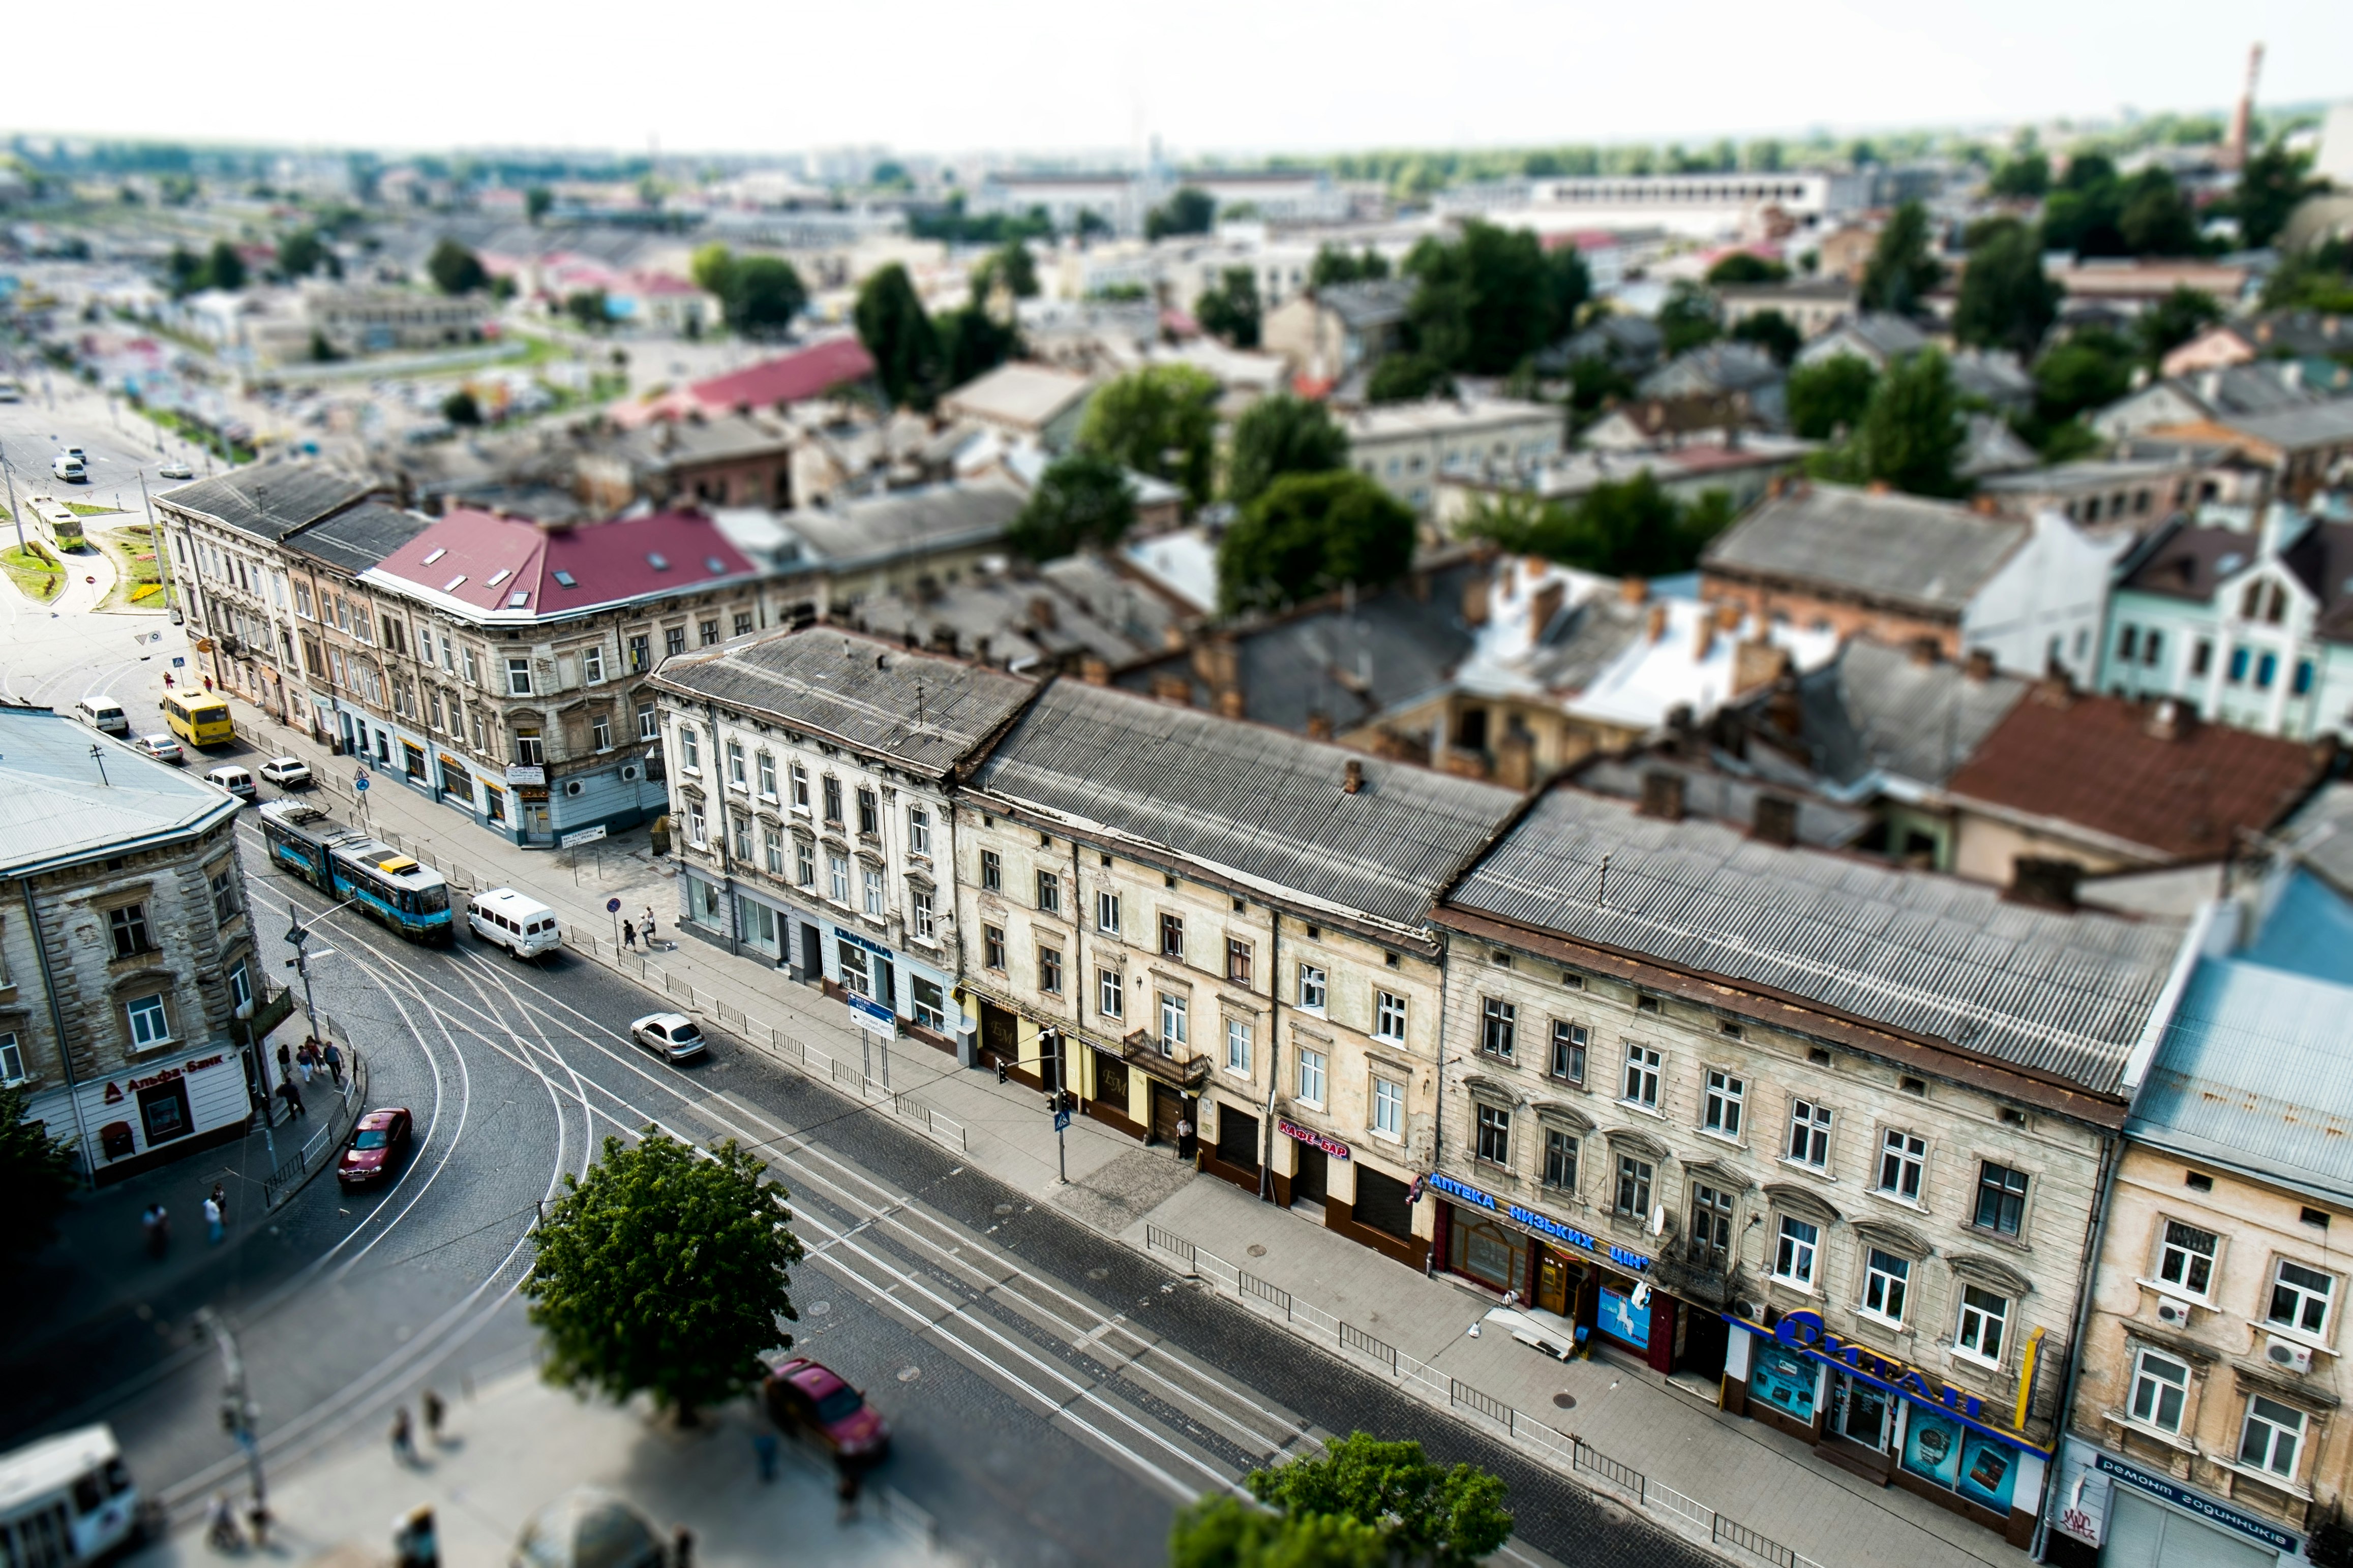
<path id="1" fill-rule="evenodd" d="M 1351 762 L 1365 788 L 1341 790 Z M 1056 682 L 974 788 L 1388 922 L 1419 922 L 1518 795 L 1111 686 Z"/>

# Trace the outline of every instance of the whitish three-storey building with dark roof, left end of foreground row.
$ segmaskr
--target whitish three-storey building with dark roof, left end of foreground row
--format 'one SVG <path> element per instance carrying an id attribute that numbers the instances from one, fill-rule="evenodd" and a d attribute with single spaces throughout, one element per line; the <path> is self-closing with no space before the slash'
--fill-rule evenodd
<path id="1" fill-rule="evenodd" d="M 1035 684 L 807 628 L 673 658 L 649 689 L 680 929 L 972 1060 L 948 792 Z"/>

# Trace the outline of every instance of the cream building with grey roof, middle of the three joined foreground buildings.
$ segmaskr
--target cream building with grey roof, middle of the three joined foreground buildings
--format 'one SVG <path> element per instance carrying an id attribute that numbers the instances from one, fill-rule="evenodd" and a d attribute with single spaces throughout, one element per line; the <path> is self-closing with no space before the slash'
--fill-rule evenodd
<path id="1" fill-rule="evenodd" d="M 1148 1143 L 1191 1121 L 1202 1171 L 1419 1267 L 1428 900 L 1515 799 L 1054 682 L 958 799 L 981 1056 Z"/>

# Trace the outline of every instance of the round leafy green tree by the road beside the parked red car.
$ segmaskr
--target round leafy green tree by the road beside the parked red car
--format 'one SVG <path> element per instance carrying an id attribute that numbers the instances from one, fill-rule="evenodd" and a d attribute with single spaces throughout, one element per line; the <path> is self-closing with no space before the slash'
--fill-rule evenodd
<path id="1" fill-rule="evenodd" d="M 649 1392 L 682 1422 L 758 1387 L 760 1352 L 793 1342 L 776 1319 L 800 1319 L 784 1197 L 732 1138 L 708 1159 L 652 1126 L 635 1147 L 607 1138 L 532 1229 L 522 1295 L 546 1342 L 541 1375 L 614 1401 Z"/>

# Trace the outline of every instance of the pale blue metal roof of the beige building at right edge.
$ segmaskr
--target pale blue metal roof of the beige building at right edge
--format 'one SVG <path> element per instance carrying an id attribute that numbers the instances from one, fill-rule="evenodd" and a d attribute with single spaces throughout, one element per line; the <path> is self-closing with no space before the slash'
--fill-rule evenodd
<path id="1" fill-rule="evenodd" d="M 2202 961 L 2125 1131 L 2353 1199 L 2348 1018 L 2353 987 Z"/>

